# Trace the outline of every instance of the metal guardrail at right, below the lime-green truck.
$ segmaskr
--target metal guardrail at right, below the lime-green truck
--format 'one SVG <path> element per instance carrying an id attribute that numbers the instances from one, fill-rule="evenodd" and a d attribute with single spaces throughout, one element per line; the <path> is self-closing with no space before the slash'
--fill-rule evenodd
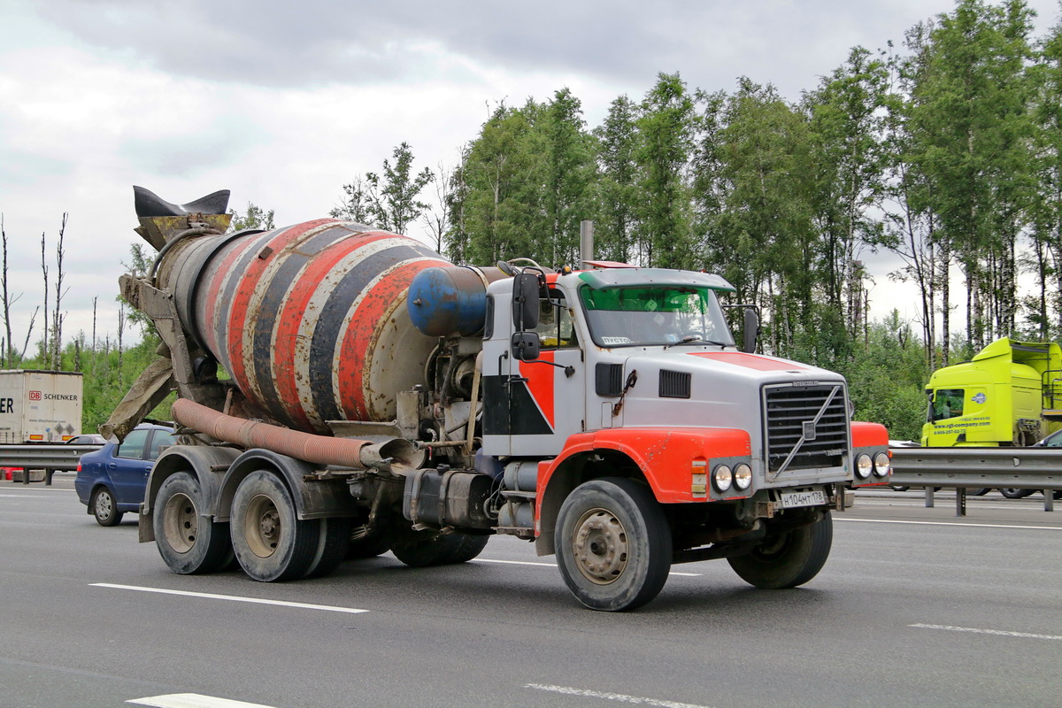
<path id="1" fill-rule="evenodd" d="M 926 488 L 954 487 L 956 513 L 965 516 L 966 489 L 978 487 L 1044 489 L 1044 511 L 1055 510 L 1051 491 L 1062 489 L 1062 448 L 891 448 L 890 484 Z"/>

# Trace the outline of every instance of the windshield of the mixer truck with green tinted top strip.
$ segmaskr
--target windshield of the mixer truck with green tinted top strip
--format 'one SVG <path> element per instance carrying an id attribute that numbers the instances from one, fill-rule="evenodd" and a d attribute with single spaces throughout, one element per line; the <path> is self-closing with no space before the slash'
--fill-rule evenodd
<path id="1" fill-rule="evenodd" d="M 601 347 L 734 344 L 710 288 L 652 284 L 595 290 L 584 286 L 579 294 L 590 335 Z"/>

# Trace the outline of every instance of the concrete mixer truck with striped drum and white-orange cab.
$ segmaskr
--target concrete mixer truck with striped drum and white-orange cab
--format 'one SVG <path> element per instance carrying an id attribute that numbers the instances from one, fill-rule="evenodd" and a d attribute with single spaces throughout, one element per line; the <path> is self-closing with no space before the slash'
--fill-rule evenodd
<path id="1" fill-rule="evenodd" d="M 754 353 L 749 311 L 736 345 L 719 276 L 458 266 L 331 219 L 226 232 L 227 192 L 134 189 L 158 255 L 121 289 L 162 345 L 103 432 L 177 391 L 181 444 L 140 508 L 177 573 L 456 564 L 508 534 L 583 605 L 631 609 L 676 563 L 804 584 L 845 488 L 889 481 L 887 432 L 850 421 L 841 376 Z"/>

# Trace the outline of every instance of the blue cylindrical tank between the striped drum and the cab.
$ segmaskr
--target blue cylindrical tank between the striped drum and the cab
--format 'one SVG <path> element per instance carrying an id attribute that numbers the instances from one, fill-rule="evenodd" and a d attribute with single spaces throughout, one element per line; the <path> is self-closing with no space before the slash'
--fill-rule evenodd
<path id="1" fill-rule="evenodd" d="M 409 286 L 409 318 L 428 336 L 469 336 L 486 321 L 486 286 L 508 277 L 496 267 L 428 267 Z"/>

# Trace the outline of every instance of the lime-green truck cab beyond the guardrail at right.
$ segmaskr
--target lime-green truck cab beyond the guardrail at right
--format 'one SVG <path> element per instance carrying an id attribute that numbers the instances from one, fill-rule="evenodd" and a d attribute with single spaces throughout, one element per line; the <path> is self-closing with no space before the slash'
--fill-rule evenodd
<path id="1" fill-rule="evenodd" d="M 1032 445 L 1062 428 L 1062 349 L 1005 336 L 933 372 L 926 394 L 924 446 Z"/>

